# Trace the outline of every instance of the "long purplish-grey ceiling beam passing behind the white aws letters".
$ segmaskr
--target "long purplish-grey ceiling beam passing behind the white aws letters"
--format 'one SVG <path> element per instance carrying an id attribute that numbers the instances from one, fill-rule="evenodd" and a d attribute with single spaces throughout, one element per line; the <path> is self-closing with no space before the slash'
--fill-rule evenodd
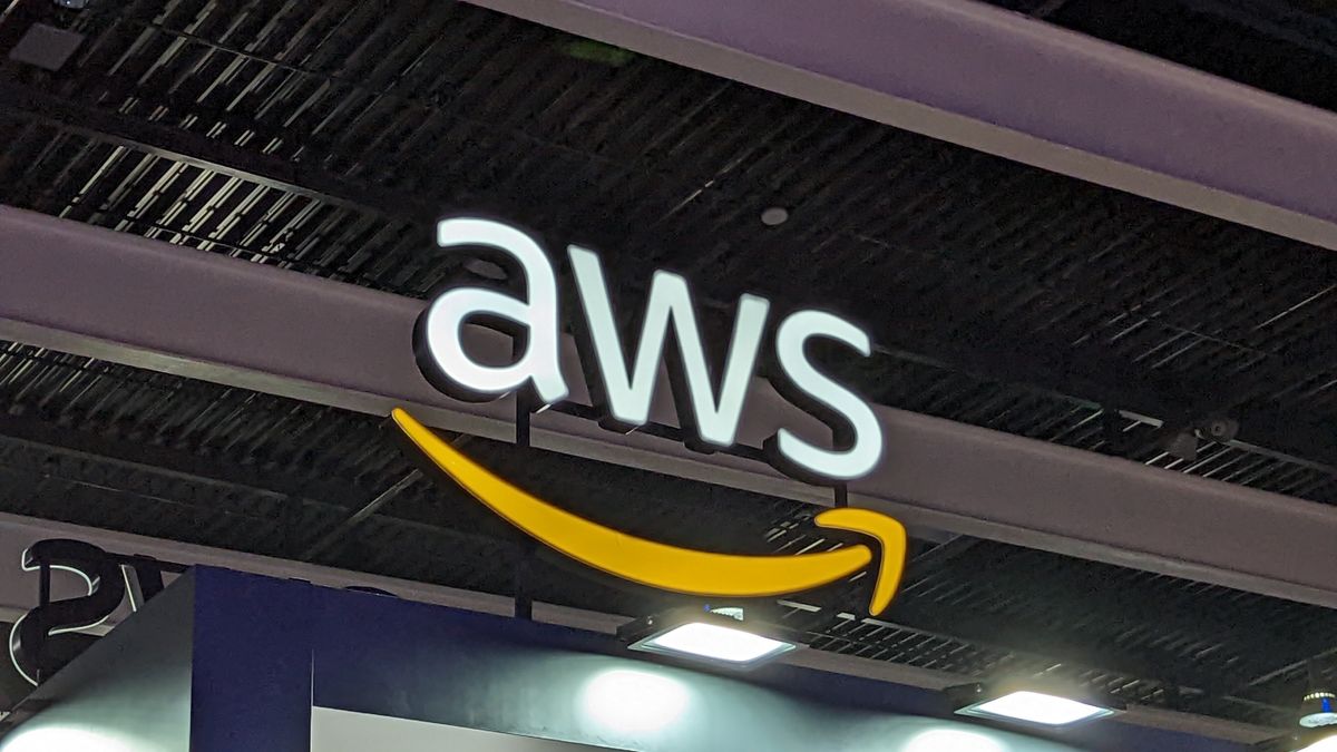
<path id="1" fill-rule="evenodd" d="M 421 301 L 9 207 L 0 207 L 0 270 L 4 339 L 373 415 L 405 405 L 440 428 L 512 436 L 508 400 L 453 401 L 422 379 L 412 349 Z M 477 348 L 509 352 L 499 335 L 476 335 Z M 587 400 L 574 348 L 564 368 L 574 399 Z M 674 421 L 664 391 L 651 417 Z M 1314 563 L 1337 554 L 1337 507 L 898 409 L 878 408 L 878 417 L 886 456 L 852 486 L 852 503 L 910 525 L 1337 606 L 1337 583 Z M 739 438 L 759 446 L 779 426 L 816 428 L 757 380 Z M 830 503 L 759 462 L 558 411 L 535 417 L 532 438 L 558 452 Z"/>

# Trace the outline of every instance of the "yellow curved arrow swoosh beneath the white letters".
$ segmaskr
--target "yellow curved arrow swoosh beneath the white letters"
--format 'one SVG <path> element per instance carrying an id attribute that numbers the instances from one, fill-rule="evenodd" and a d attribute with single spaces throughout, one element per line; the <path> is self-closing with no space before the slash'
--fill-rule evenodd
<path id="1" fill-rule="evenodd" d="M 507 522 L 567 557 L 623 579 L 693 595 L 758 598 L 826 585 L 873 561 L 873 551 L 864 545 L 817 554 L 747 557 L 679 549 L 627 535 L 555 507 L 497 478 L 408 412 L 396 408 L 390 416 L 436 467 Z M 906 538 L 901 523 L 870 510 L 849 507 L 826 510 L 814 522 L 877 539 L 882 555 L 869 613 L 885 610 L 905 565 Z"/>

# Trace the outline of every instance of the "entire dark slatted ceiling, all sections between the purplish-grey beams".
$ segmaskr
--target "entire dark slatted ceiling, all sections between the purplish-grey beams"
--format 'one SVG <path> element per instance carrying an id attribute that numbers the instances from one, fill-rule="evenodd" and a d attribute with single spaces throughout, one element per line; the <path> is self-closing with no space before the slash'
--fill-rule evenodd
<path id="1" fill-rule="evenodd" d="M 1261 1 L 1011 5 L 1337 99 L 1317 4 L 1280 27 Z M 1330 252 L 465 4 L 9 8 L 3 48 L 35 21 L 87 39 L 55 72 L 0 62 L 3 203 L 418 297 L 467 274 L 433 252 L 432 219 L 501 213 L 599 248 L 624 289 L 662 265 L 721 309 L 747 290 L 841 301 L 885 348 L 836 367 L 884 404 L 1337 503 Z M 763 226 L 767 206 L 792 219 Z M 519 541 L 410 478 L 377 419 L 19 344 L 0 344 L 0 405 L 4 511 L 513 589 Z M 1234 440 L 1167 451 L 1222 416 Z M 838 543 L 793 502 L 473 451 L 631 530 L 739 551 Z M 1305 660 L 1337 657 L 1314 606 L 987 541 L 915 554 L 885 621 L 845 613 L 860 582 L 766 607 L 822 649 L 1060 673 L 1278 728 Z M 662 598 L 551 562 L 529 577 L 544 601 L 607 612 Z"/>

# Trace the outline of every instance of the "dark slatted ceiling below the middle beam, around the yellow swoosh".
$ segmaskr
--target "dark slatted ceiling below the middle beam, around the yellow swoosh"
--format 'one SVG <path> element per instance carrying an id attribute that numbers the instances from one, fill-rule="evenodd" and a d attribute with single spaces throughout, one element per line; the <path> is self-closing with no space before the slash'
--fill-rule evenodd
<path id="1" fill-rule="evenodd" d="M 299 558 L 412 467 L 369 416 L 21 345 L 5 351 L 4 511 Z M 16 365 L 21 359 L 27 364 Z M 27 384 L 52 380 L 64 389 L 21 393 L 20 372 Z M 295 417 L 308 411 L 314 415 Z M 475 440 L 471 452 L 632 533 L 743 553 L 840 543 L 812 526 L 812 507 L 794 502 L 562 455 L 516 455 L 491 442 Z M 475 506 L 414 483 L 313 561 L 511 593 L 519 539 Z M 975 678 L 1059 672 L 1139 702 L 1173 697 L 1182 709 L 1269 723 L 1289 712 L 1302 678 L 1296 664 L 1330 645 L 1317 626 L 1330 617 L 1314 606 L 968 538 L 920 542 L 915 551 L 882 620 L 845 613 L 866 598 L 858 578 L 809 594 L 801 609 L 773 610 L 824 650 Z M 555 561 L 536 577 L 544 599 L 572 606 L 647 613 L 673 601 Z"/>

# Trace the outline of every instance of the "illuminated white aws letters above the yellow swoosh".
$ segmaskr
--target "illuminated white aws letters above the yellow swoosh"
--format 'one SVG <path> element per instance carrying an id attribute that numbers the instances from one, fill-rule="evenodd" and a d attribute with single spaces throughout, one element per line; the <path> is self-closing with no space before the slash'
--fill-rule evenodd
<path id="1" fill-rule="evenodd" d="M 465 400 L 491 400 L 532 389 L 544 405 L 563 401 L 570 388 L 559 356 L 563 310 L 558 276 L 539 241 L 492 219 L 443 219 L 437 245 L 487 256 L 508 268 L 511 289 L 456 286 L 431 301 L 417 322 L 418 365 L 439 389 Z M 600 423 L 632 431 L 650 419 L 660 364 L 690 447 L 711 451 L 734 446 L 753 376 L 765 363 L 771 384 L 786 399 L 832 428 L 832 446 L 814 446 L 787 428 L 762 450 L 783 472 L 814 483 L 841 483 L 866 475 L 882 454 L 882 432 L 873 409 L 848 387 L 818 371 L 808 355 L 814 340 L 830 340 L 868 356 L 868 333 L 822 310 L 797 310 L 771 322 L 771 305 L 751 294 L 738 298 L 723 368 L 711 373 L 687 281 L 655 272 L 634 349 L 623 341 L 619 317 L 595 252 L 571 245 L 567 262 L 579 310 L 572 316 L 580 360 Z M 467 352 L 467 322 L 505 331 L 517 343 L 508 363 L 481 363 Z M 770 343 L 766 335 L 773 332 Z M 668 340 L 673 339 L 673 347 Z M 630 353 L 630 357 L 628 357 Z"/>

